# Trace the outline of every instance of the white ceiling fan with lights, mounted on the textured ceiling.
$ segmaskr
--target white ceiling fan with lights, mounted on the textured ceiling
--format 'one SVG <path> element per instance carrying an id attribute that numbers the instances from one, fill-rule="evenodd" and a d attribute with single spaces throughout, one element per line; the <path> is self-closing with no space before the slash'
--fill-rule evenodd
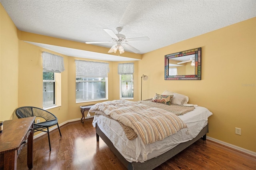
<path id="1" fill-rule="evenodd" d="M 110 29 L 103 29 L 104 31 L 106 31 L 106 33 L 108 33 L 108 35 L 110 35 L 112 37 L 112 41 L 108 41 L 108 42 L 86 42 L 87 44 L 91 44 L 91 43 L 116 43 L 114 44 L 110 50 L 108 51 L 108 53 L 116 53 L 117 49 L 119 50 L 119 53 L 122 54 L 124 53 L 124 48 L 133 51 L 134 53 L 138 53 L 140 52 L 140 50 L 132 47 L 132 45 L 129 45 L 129 42 L 138 42 L 138 41 L 149 41 L 148 37 L 138 37 L 138 38 L 126 38 L 123 34 L 119 34 L 119 32 L 122 31 L 122 28 L 116 28 L 116 31 L 118 32 L 118 34 L 115 34 L 112 30 Z"/>

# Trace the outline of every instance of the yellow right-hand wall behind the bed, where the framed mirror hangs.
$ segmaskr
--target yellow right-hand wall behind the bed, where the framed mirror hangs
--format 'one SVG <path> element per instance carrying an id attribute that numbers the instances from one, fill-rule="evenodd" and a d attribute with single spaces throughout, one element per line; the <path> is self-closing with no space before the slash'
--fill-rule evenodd
<path id="1" fill-rule="evenodd" d="M 164 80 L 164 55 L 197 47 L 202 80 Z M 208 136 L 256 152 L 256 18 L 146 53 L 138 67 L 149 77 L 142 99 L 164 90 L 187 95 L 213 113 Z"/>

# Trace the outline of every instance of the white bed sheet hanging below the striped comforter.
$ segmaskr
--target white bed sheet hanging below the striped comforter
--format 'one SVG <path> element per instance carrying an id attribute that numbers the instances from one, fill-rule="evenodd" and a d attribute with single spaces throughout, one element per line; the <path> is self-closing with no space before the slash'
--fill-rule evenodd
<path id="1" fill-rule="evenodd" d="M 95 115 L 92 125 L 95 127 L 97 123 L 97 126 L 128 162 L 144 162 L 159 156 L 182 142 L 195 138 L 202 128 L 207 125 L 208 117 L 211 115 L 212 113 L 205 107 L 195 107 L 193 111 L 179 116 L 188 128 L 147 146 L 143 144 L 140 136 L 134 140 L 128 140 L 120 124 L 103 115 Z"/>

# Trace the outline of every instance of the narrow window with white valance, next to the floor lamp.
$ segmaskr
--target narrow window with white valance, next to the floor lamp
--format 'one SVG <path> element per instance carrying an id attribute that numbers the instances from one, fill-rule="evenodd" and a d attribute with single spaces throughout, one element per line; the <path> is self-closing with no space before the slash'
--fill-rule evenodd
<path id="1" fill-rule="evenodd" d="M 134 63 L 118 64 L 120 75 L 120 99 L 133 99 Z"/>

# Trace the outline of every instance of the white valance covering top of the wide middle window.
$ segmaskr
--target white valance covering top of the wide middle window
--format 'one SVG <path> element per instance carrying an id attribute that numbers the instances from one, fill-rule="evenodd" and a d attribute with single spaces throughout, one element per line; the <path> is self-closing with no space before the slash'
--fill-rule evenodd
<path id="1" fill-rule="evenodd" d="M 109 64 L 94 61 L 76 61 L 76 77 L 108 77 Z"/>

